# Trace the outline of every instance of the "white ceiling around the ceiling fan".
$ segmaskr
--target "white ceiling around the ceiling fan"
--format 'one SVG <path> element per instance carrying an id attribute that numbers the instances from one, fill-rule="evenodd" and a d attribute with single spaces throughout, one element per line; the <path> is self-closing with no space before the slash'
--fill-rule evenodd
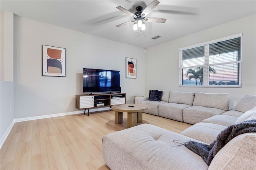
<path id="1" fill-rule="evenodd" d="M 146 30 L 140 35 L 133 31 L 133 24 L 116 27 L 133 20 L 116 7 L 122 6 L 134 13 L 136 6 L 146 8 L 152 0 L 1 0 L 0 8 L 17 16 L 142 48 L 256 13 L 255 0 L 158 1 L 160 4 L 147 17 L 166 18 L 166 22 L 146 22 Z M 161 38 L 150 39 L 156 35 Z"/>

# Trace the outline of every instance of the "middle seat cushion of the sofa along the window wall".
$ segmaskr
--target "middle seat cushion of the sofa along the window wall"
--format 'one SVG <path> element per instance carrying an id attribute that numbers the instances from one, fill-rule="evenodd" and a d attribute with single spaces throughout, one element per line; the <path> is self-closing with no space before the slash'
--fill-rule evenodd
<path id="1" fill-rule="evenodd" d="M 182 110 L 187 107 L 191 106 L 177 103 L 165 103 L 158 105 L 158 115 L 160 117 L 182 122 Z"/>

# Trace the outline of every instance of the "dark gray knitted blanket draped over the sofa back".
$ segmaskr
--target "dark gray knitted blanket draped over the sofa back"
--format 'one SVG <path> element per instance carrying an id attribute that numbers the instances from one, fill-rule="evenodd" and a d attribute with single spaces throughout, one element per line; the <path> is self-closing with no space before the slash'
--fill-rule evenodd
<path id="1" fill-rule="evenodd" d="M 211 144 L 203 144 L 190 140 L 189 142 L 184 143 L 184 145 L 201 156 L 204 162 L 206 162 L 206 164 L 209 166 L 218 151 L 232 138 L 238 136 L 239 134 L 249 132 L 256 132 L 256 119 L 244 121 L 242 123 L 227 127 L 220 132 L 220 134 L 218 134 L 217 138 Z"/>

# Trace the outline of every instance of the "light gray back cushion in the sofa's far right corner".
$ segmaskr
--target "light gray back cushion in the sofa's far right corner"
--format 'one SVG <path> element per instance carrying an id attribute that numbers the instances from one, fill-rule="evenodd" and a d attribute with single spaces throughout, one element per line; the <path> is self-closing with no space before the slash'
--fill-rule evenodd
<path id="1" fill-rule="evenodd" d="M 246 112 L 256 106 L 255 95 L 244 95 L 240 101 L 236 104 L 235 111 Z"/>

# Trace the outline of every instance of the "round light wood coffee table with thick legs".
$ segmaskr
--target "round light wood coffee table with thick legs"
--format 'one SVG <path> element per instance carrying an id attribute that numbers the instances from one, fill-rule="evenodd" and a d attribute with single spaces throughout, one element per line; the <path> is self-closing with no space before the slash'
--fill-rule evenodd
<path id="1" fill-rule="evenodd" d="M 142 122 L 142 111 L 147 110 L 148 106 L 126 103 L 121 105 L 113 105 L 111 108 L 113 111 L 115 111 L 116 124 L 123 123 L 123 112 L 127 112 L 127 128 L 130 128 L 136 126 L 137 123 Z"/>

